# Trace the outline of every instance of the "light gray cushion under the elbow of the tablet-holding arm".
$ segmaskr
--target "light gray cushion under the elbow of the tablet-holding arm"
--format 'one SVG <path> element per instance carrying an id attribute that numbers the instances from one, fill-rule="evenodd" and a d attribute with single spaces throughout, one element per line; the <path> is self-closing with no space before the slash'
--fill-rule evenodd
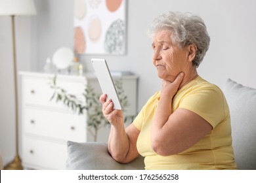
<path id="1" fill-rule="evenodd" d="M 68 141 L 66 169 L 73 170 L 133 170 L 144 169 L 144 158 L 139 156 L 131 163 L 117 163 L 108 153 L 104 142 Z"/>

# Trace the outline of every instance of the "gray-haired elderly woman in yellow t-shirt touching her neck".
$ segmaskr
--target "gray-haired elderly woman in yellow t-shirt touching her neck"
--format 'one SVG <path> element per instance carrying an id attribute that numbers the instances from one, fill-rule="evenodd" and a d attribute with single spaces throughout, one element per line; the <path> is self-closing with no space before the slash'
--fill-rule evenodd
<path id="1" fill-rule="evenodd" d="M 196 70 L 210 41 L 203 20 L 167 12 L 154 20 L 150 34 L 162 88 L 126 129 L 123 112 L 100 96 L 111 124 L 110 154 L 120 163 L 140 154 L 145 169 L 236 169 L 226 99 Z"/>

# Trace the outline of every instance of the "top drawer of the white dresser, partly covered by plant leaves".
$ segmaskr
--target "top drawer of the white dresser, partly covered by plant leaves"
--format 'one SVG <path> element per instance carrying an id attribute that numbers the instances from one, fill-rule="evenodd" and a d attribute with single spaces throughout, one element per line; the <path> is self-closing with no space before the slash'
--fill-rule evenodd
<path id="1" fill-rule="evenodd" d="M 48 78 L 22 78 L 22 99 L 25 104 L 43 105 L 46 107 L 66 108 L 55 99 L 51 101 L 54 90 L 50 86 L 51 77 Z M 57 86 L 60 86 L 70 94 L 80 95 L 84 101 L 82 93 L 85 90 L 84 82 L 65 82 L 57 79 Z"/>

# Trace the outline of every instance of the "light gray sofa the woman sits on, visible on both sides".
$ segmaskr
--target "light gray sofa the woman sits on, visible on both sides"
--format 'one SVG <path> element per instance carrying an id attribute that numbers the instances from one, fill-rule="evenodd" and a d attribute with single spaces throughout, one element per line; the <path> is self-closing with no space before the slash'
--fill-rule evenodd
<path id="1" fill-rule="evenodd" d="M 232 144 L 238 169 L 256 169 L 256 89 L 228 79 L 223 88 L 230 108 Z M 144 169 L 140 156 L 131 163 L 117 163 L 104 142 L 67 143 L 66 169 Z"/>

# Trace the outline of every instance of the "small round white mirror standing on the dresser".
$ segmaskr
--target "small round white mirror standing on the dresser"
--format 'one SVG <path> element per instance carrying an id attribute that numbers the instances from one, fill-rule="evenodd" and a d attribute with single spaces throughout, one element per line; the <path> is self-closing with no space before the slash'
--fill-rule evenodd
<path id="1" fill-rule="evenodd" d="M 57 69 L 67 69 L 74 59 L 74 52 L 70 48 L 59 48 L 53 54 L 53 64 Z"/>

